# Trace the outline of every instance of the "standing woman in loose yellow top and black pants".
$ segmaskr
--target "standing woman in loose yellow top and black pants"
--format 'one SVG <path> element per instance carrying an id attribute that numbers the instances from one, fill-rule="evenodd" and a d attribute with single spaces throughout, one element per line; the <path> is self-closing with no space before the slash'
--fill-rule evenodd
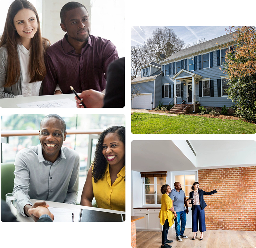
<path id="1" fill-rule="evenodd" d="M 162 198 L 161 198 L 161 210 L 158 217 L 160 218 L 160 224 L 163 226 L 162 231 L 162 246 L 161 247 L 172 247 L 172 245 L 166 243 L 172 243 L 172 240 L 167 239 L 169 227 L 174 223 L 174 218 L 177 217 L 176 211 L 172 207 L 172 199 L 169 197 L 171 188 L 168 184 L 164 184 L 161 187 Z"/>

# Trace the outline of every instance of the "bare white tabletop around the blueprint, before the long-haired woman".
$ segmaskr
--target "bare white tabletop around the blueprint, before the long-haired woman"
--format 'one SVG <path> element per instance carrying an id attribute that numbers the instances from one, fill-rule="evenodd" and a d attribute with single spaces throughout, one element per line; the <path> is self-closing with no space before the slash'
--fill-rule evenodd
<path id="1" fill-rule="evenodd" d="M 68 98 L 76 102 L 75 94 L 62 94 L 62 95 L 48 95 L 48 96 L 34 96 L 34 97 L 2 98 L 0 99 L 0 104 L 8 108 L 19 108 L 16 104 L 49 101 L 49 100 L 60 100 L 65 98 Z"/>

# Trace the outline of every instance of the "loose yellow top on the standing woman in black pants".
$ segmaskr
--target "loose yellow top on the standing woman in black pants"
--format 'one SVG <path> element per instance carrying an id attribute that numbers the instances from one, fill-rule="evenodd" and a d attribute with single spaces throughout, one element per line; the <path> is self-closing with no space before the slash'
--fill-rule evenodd
<path id="1" fill-rule="evenodd" d="M 167 195 L 163 194 L 161 198 L 161 210 L 158 217 L 160 218 L 160 224 L 164 225 L 166 219 L 168 219 L 169 226 L 171 227 L 174 223 L 174 215 L 170 208 L 172 208 L 172 199 Z"/>

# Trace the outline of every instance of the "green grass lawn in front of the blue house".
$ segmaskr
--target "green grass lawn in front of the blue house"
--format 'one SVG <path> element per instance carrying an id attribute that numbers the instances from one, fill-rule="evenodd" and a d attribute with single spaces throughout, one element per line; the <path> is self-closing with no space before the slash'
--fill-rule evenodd
<path id="1" fill-rule="evenodd" d="M 256 125 L 242 120 L 201 116 L 132 115 L 132 134 L 256 134 Z"/>

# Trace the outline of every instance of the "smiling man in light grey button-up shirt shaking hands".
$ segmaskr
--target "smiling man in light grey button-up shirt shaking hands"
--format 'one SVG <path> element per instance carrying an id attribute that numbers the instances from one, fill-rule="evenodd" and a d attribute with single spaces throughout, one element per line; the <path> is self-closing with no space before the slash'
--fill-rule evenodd
<path id="1" fill-rule="evenodd" d="M 20 150 L 15 158 L 13 193 L 18 195 L 20 214 L 33 207 L 30 198 L 76 204 L 78 195 L 79 154 L 62 147 L 66 124 L 56 114 L 45 116 L 40 123 L 40 145 Z"/>

